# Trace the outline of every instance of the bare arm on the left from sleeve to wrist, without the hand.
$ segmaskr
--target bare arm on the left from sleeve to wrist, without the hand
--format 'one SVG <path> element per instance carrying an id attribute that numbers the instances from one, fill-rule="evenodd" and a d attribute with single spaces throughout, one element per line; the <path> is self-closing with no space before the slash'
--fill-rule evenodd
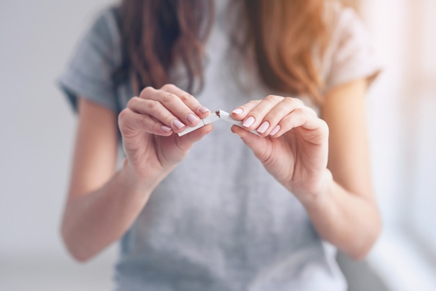
<path id="1" fill-rule="evenodd" d="M 114 173 L 116 113 L 79 99 L 79 123 L 61 234 L 77 260 L 87 260 L 116 241 L 134 221 L 151 187 L 136 191 L 128 167 Z"/>

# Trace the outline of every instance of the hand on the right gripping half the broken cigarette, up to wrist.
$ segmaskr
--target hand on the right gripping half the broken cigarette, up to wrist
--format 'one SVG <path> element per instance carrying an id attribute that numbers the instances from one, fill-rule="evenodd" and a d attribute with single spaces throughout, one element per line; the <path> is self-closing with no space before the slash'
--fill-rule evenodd
<path id="1" fill-rule="evenodd" d="M 300 200 L 317 196 L 332 179 L 327 170 L 327 123 L 301 100 L 269 95 L 238 107 L 231 116 L 242 120 L 247 129 L 233 126 L 232 131 L 253 150 L 267 171 Z"/>

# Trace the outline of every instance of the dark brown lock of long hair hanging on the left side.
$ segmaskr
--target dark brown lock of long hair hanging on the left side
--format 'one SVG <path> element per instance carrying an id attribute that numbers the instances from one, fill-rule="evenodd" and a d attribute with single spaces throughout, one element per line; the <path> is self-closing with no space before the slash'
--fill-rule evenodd
<path id="1" fill-rule="evenodd" d="M 168 83 L 182 62 L 187 90 L 202 84 L 204 42 L 213 19 L 212 0 L 123 0 L 120 26 L 125 63 L 134 92 Z"/>

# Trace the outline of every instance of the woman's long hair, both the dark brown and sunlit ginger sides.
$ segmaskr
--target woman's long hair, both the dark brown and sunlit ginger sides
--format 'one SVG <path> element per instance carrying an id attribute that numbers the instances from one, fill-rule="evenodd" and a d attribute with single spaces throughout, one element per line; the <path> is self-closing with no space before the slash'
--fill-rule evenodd
<path id="1" fill-rule="evenodd" d="M 240 0 L 238 22 L 244 37 L 233 37 L 242 52 L 251 45 L 267 86 L 290 94 L 311 95 L 321 102 L 314 52 L 322 54 L 329 33 L 325 0 Z M 203 80 L 204 43 L 213 22 L 213 1 L 123 0 L 121 29 L 125 60 L 135 91 L 160 87 L 171 80 L 171 67 L 181 61 L 188 91 Z"/>

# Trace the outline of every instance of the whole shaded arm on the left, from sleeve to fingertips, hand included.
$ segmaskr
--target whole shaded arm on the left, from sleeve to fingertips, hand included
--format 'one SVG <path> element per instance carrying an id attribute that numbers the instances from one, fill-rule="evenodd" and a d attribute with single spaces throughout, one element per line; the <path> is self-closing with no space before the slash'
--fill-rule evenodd
<path id="1" fill-rule="evenodd" d="M 212 130 L 210 125 L 181 138 L 173 134 L 185 124 L 198 123 L 193 114 L 204 118 L 209 111 L 175 86 L 164 87 L 144 90 L 118 116 L 126 158 L 116 173 L 116 113 L 79 98 L 74 162 L 61 224 L 65 245 L 77 260 L 88 260 L 119 239 L 157 184 L 195 141 Z"/>

